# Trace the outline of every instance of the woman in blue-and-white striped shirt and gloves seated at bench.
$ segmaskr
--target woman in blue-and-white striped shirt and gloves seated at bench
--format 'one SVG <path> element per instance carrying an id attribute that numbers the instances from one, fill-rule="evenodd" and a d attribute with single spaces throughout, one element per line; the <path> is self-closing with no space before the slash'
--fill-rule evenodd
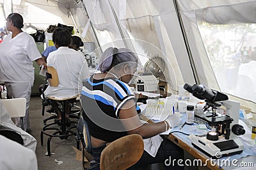
<path id="1" fill-rule="evenodd" d="M 90 129 L 92 156 L 96 162 L 100 162 L 100 153 L 106 144 L 120 137 L 140 134 L 143 139 L 153 138 L 179 125 L 180 118 L 177 114 L 172 114 L 159 123 L 141 123 L 136 111 L 136 98 L 127 85 L 136 72 L 137 64 L 138 58 L 131 50 L 109 47 L 100 58 L 101 73 L 96 73 L 83 82 L 83 118 Z M 146 145 L 144 143 L 144 146 Z M 158 148 L 153 148 L 155 146 Z M 144 150 L 140 160 L 131 169 L 164 163 L 170 156 L 175 159 L 183 158 L 183 150 L 169 140 L 160 142 L 150 149 L 156 149 L 156 155 L 152 156 Z M 177 164 L 173 168 L 184 169 Z M 166 169 L 170 167 L 166 166 Z"/>

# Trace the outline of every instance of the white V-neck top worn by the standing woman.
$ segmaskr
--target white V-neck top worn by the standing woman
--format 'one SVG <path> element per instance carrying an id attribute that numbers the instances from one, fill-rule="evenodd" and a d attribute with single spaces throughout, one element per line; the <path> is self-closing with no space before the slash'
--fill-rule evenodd
<path id="1" fill-rule="evenodd" d="M 34 81 L 33 62 L 41 58 L 35 40 L 27 33 L 19 33 L 12 38 L 7 35 L 0 43 L 0 81 Z"/>

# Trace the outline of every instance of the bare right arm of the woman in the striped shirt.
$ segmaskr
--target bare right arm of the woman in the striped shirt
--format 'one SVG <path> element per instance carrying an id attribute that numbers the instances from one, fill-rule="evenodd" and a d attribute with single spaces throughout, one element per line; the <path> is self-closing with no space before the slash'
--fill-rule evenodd
<path id="1" fill-rule="evenodd" d="M 166 124 L 163 121 L 159 123 L 141 123 L 133 100 L 129 100 L 122 106 L 119 118 L 125 129 L 128 130 L 128 134 L 139 134 L 143 138 L 152 137 L 164 132 L 166 125 L 168 126 L 167 129 L 169 129 L 168 123 Z"/>

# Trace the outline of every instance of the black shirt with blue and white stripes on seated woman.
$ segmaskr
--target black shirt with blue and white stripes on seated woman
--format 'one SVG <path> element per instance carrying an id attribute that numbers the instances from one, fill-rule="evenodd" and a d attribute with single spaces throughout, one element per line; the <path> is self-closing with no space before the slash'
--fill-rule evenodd
<path id="1" fill-rule="evenodd" d="M 131 88 L 114 77 L 95 80 L 93 75 L 83 84 L 81 104 L 90 134 L 108 142 L 127 135 L 118 114 L 128 100 L 135 104 Z"/>

